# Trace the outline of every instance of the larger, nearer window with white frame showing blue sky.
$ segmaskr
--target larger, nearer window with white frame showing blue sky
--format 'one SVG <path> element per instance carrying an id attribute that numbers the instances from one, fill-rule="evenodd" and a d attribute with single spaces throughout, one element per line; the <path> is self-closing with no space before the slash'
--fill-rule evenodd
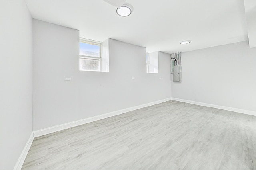
<path id="1" fill-rule="evenodd" d="M 102 70 L 102 42 L 80 38 L 79 70 Z"/>

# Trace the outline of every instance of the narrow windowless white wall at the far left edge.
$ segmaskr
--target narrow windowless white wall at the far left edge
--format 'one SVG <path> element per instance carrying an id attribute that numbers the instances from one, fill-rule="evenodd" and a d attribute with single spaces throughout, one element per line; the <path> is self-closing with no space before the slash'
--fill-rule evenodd
<path id="1" fill-rule="evenodd" d="M 13 169 L 32 133 L 32 17 L 0 0 L 0 169 Z"/>

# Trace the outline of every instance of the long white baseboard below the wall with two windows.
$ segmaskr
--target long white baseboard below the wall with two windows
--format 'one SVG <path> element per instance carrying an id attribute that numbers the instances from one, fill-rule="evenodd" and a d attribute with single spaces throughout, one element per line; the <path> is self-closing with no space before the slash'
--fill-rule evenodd
<path id="1" fill-rule="evenodd" d="M 76 126 L 83 125 L 83 124 L 86 124 L 86 123 L 90 123 L 90 122 L 93 122 L 93 121 L 97 121 L 97 120 L 105 119 L 105 118 L 108 118 L 108 117 L 120 115 L 120 114 L 129 112 L 129 111 L 141 109 L 143 107 L 148 107 L 148 106 L 152 106 L 154 104 L 167 102 L 169 100 L 172 100 L 172 98 L 166 98 L 166 99 L 158 100 L 158 101 L 155 101 L 155 102 L 150 102 L 150 103 L 147 103 L 147 104 L 142 104 L 142 105 L 139 105 L 139 106 L 130 107 L 130 108 L 127 108 L 127 109 L 113 111 L 113 112 L 110 112 L 110 113 L 106 113 L 106 114 L 102 114 L 102 115 L 98 115 L 98 116 L 94 116 L 94 117 L 88 117 L 86 119 L 80 119 L 80 120 L 77 120 L 77 121 L 72 121 L 72 122 L 61 124 L 61 125 L 48 127 L 48 128 L 45 128 L 45 129 L 40 129 L 40 130 L 34 131 L 34 137 L 40 137 L 40 136 L 43 136 L 43 135 L 47 135 L 49 133 L 54 133 L 54 132 L 61 131 L 61 130 L 64 130 L 64 129 L 68 129 L 68 128 L 71 128 L 71 127 L 76 127 Z"/>

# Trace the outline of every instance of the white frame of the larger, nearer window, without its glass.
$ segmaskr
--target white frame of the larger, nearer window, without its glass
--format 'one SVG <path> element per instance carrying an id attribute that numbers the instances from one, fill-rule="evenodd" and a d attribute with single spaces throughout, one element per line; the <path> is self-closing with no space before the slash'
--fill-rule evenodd
<path id="1" fill-rule="evenodd" d="M 98 45 L 100 46 L 100 57 L 93 57 L 93 56 L 88 56 L 88 55 L 80 55 L 79 52 L 79 71 L 95 71 L 95 72 L 101 72 L 102 71 L 102 42 L 100 41 L 95 41 L 92 39 L 85 39 L 80 37 L 79 38 L 79 43 L 86 43 L 86 44 L 91 44 L 91 45 Z M 80 50 L 80 45 L 79 45 L 79 50 Z M 80 70 L 80 59 L 89 59 L 89 60 L 99 60 L 100 61 L 100 71 L 96 70 Z"/>

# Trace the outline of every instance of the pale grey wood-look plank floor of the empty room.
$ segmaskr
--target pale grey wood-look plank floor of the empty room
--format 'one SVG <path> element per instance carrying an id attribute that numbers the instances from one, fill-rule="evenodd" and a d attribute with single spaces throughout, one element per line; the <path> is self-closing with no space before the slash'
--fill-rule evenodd
<path id="1" fill-rule="evenodd" d="M 168 101 L 34 139 L 22 169 L 256 169 L 256 117 Z"/>

